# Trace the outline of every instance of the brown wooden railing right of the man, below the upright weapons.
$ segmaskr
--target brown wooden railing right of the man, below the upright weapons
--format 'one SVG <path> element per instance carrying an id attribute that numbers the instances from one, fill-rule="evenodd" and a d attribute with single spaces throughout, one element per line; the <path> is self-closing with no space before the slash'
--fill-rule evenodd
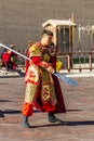
<path id="1" fill-rule="evenodd" d="M 73 52 L 66 54 L 62 53 L 57 55 L 57 57 L 66 59 L 67 67 L 65 67 L 65 69 L 67 69 L 68 72 L 70 72 L 71 69 L 79 69 L 79 72 L 81 72 L 82 69 L 90 69 L 92 72 L 92 69 L 94 69 L 94 52 Z M 73 62 L 75 59 L 78 59 L 77 63 Z M 81 59 L 84 60 L 83 63 L 81 62 Z M 88 60 L 88 62 L 85 62 L 85 60 Z"/>

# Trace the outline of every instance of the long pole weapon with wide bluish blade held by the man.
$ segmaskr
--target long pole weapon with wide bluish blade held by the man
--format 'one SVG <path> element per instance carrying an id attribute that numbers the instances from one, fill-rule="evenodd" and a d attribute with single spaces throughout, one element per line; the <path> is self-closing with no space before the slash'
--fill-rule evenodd
<path id="1" fill-rule="evenodd" d="M 0 47 L 2 47 L 2 48 L 4 48 L 4 49 L 8 49 L 8 50 L 11 50 L 11 51 L 14 52 L 15 54 L 17 54 L 17 55 L 24 57 L 25 60 L 31 61 L 31 59 L 27 57 L 26 55 L 21 54 L 19 52 L 15 51 L 15 50 L 13 50 L 13 49 L 11 49 L 11 48 L 9 48 L 8 46 L 4 46 L 4 44 L 1 43 L 1 42 L 0 42 Z M 58 73 L 58 72 L 54 72 L 53 74 L 54 74 L 57 78 L 62 79 L 63 81 L 65 81 L 66 84 L 70 85 L 70 86 L 73 86 L 73 87 L 78 86 L 78 82 L 77 82 L 77 81 L 75 81 L 75 80 L 72 80 L 72 79 L 70 79 L 70 78 L 68 78 L 68 77 L 66 77 L 65 75 L 63 75 L 63 74 L 61 74 L 61 73 Z"/>

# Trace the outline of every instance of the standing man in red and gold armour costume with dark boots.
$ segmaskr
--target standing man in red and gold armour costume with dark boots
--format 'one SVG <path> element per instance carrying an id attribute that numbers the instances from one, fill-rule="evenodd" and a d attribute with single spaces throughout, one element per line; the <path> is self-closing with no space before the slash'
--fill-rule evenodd
<path id="1" fill-rule="evenodd" d="M 59 121 L 54 114 L 66 112 L 58 79 L 53 75 L 56 55 L 53 54 L 52 39 L 53 33 L 43 30 L 41 41 L 31 43 L 28 48 L 31 61 L 26 64 L 26 91 L 22 108 L 22 125 L 25 128 L 30 127 L 28 117 L 32 115 L 33 106 L 48 112 L 50 123 Z"/>

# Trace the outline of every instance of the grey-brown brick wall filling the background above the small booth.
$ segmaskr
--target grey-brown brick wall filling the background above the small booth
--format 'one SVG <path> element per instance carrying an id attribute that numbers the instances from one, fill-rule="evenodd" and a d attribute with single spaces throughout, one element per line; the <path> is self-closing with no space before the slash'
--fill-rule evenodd
<path id="1" fill-rule="evenodd" d="M 49 18 L 94 25 L 94 0 L 0 0 L 0 41 L 25 49 L 29 40 L 38 41 L 42 23 Z"/>

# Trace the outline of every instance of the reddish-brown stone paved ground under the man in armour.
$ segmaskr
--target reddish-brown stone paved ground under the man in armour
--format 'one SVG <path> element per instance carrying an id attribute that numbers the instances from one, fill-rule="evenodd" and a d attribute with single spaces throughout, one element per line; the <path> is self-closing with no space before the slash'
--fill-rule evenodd
<path id="1" fill-rule="evenodd" d="M 79 87 L 61 81 L 67 113 L 63 124 L 50 124 L 48 115 L 35 111 L 30 129 L 22 127 L 24 78 L 0 78 L 0 141 L 94 141 L 94 77 L 73 78 Z"/>

